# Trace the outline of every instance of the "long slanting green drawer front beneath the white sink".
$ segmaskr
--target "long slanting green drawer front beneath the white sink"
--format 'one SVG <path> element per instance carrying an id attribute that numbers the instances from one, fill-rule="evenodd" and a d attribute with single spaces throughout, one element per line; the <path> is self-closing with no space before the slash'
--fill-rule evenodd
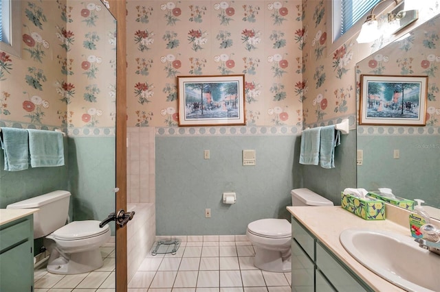
<path id="1" fill-rule="evenodd" d="M 333 258 L 319 241 L 316 244 L 316 265 L 337 291 L 371 291 L 365 288 L 368 286 L 362 283 L 362 280 L 356 280 L 358 276 L 347 271 L 348 268 L 344 267 L 344 264 Z"/>

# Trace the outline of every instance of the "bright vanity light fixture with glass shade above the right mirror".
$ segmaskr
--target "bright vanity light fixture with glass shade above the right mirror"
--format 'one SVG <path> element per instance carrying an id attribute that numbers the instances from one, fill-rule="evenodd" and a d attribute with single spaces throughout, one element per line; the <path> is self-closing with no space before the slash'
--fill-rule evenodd
<path id="1" fill-rule="evenodd" d="M 377 3 L 371 10 L 370 15 L 366 16 L 366 21 L 362 25 L 362 29 L 360 30 L 358 38 L 356 38 L 356 41 L 358 43 L 373 42 L 381 36 L 389 37 L 392 34 L 396 34 L 397 32 L 399 32 L 400 29 L 406 27 L 406 25 L 409 25 L 419 18 L 417 10 L 395 9 L 392 12 L 388 13 L 388 17 L 385 16 L 381 18 L 380 23 L 378 23 L 378 16 L 374 14 L 374 10 L 380 3 L 384 1 L 386 0 L 379 1 L 379 3 Z M 408 0 L 405 0 L 405 5 L 406 1 Z M 399 4 L 397 0 L 394 0 L 394 2 L 396 5 Z"/>

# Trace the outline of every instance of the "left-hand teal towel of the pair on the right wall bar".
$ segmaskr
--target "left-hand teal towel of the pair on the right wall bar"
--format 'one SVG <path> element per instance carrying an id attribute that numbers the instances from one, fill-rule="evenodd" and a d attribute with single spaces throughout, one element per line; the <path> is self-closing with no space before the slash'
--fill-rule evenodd
<path id="1" fill-rule="evenodd" d="M 300 164 L 318 165 L 321 127 L 303 130 L 301 134 Z"/>

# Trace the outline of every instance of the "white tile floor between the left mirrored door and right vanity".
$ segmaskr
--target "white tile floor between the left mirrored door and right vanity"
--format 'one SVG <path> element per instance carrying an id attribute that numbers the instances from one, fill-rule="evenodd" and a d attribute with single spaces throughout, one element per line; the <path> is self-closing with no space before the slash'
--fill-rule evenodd
<path id="1" fill-rule="evenodd" d="M 290 292 L 291 273 L 261 271 L 245 236 L 184 236 L 175 255 L 148 254 L 129 292 Z"/>

